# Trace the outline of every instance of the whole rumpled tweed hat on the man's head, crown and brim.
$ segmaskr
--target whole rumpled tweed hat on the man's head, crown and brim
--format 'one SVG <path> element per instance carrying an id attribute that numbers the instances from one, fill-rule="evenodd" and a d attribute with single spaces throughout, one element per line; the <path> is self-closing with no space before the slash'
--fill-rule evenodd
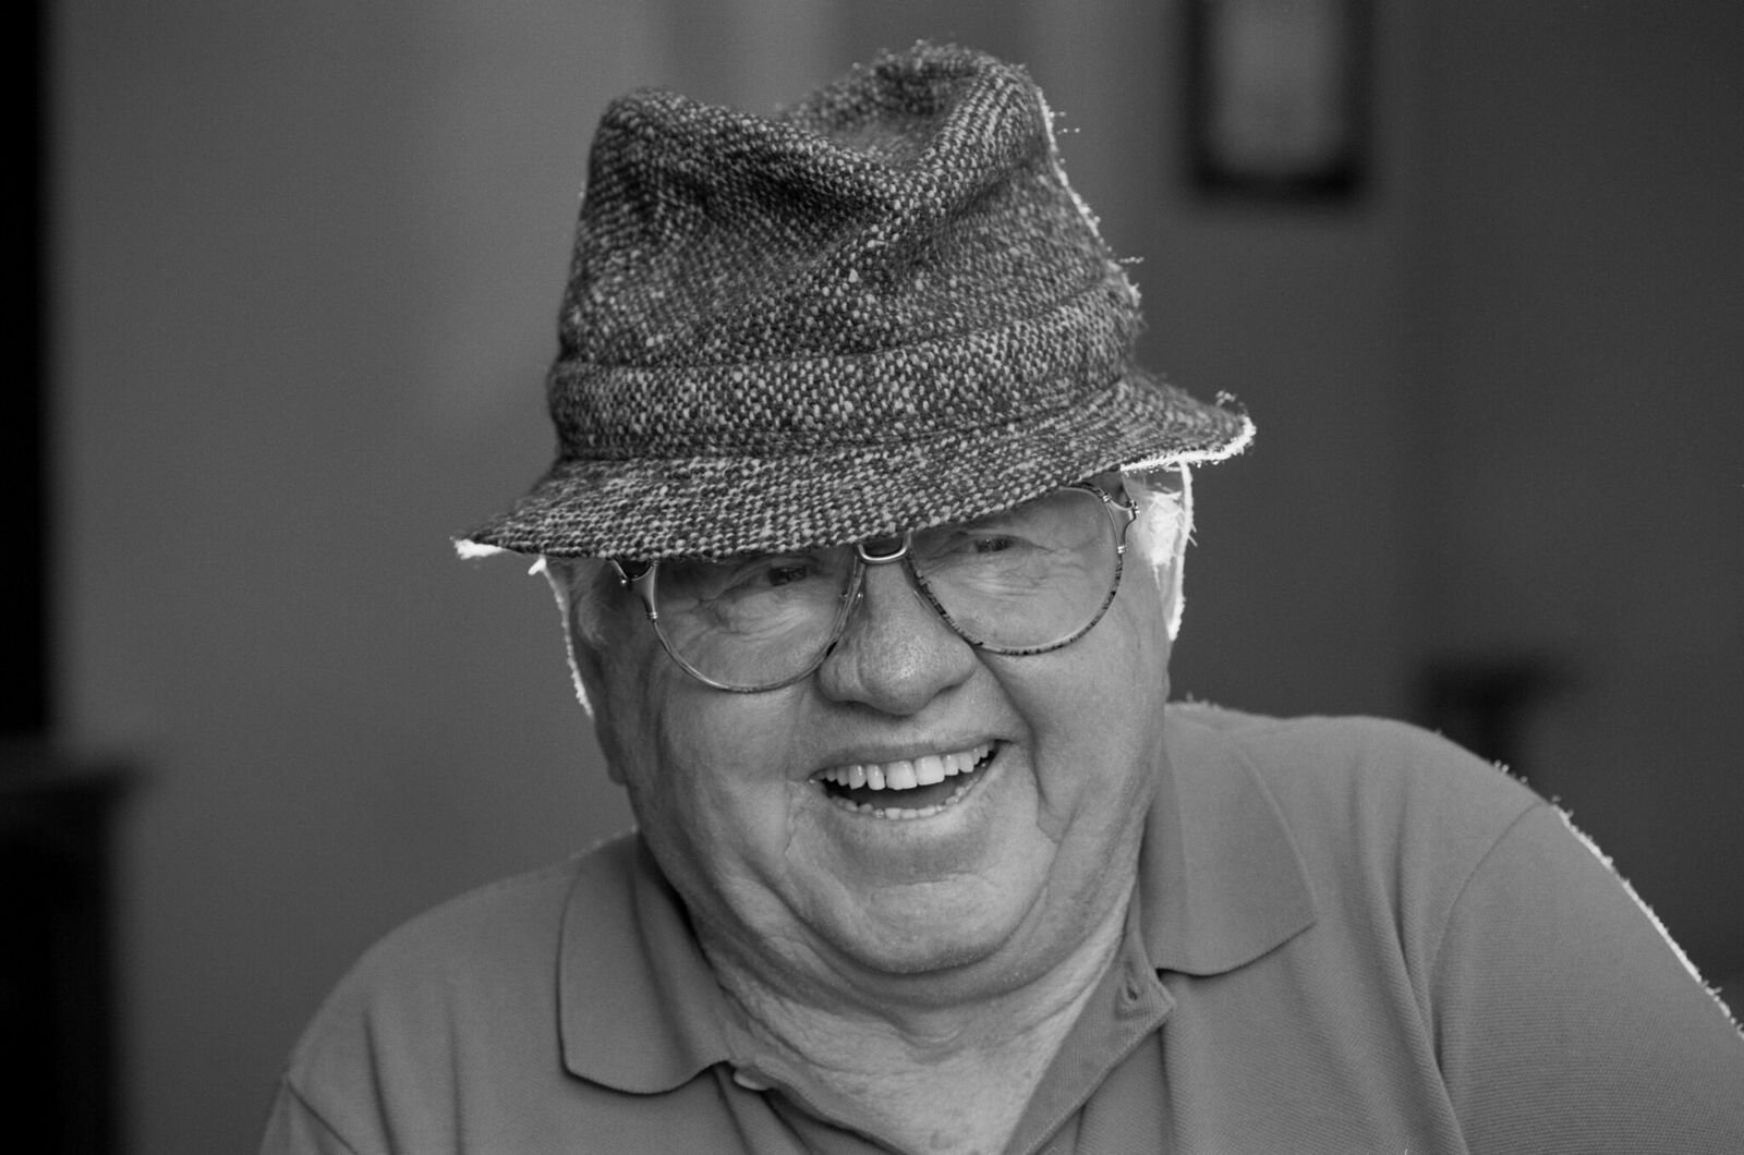
<path id="1" fill-rule="evenodd" d="M 788 550 L 1240 450 L 1245 415 L 1132 363 L 1139 323 L 1022 68 L 921 44 L 774 117 L 631 92 L 589 157 L 558 461 L 467 539 Z"/>

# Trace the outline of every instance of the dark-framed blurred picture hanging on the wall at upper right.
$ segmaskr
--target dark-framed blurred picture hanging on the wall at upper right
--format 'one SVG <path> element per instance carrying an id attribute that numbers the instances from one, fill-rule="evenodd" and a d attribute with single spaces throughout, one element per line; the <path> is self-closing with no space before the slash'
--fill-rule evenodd
<path id="1" fill-rule="evenodd" d="M 1348 201 L 1369 154 L 1367 0 L 1186 0 L 1188 150 L 1209 197 Z"/>

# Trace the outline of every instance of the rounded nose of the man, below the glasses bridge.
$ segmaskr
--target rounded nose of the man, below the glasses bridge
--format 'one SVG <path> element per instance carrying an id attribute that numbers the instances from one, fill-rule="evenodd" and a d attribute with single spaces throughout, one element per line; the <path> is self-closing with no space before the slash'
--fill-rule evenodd
<path id="1" fill-rule="evenodd" d="M 867 565 L 860 604 L 818 666 L 818 684 L 835 701 L 909 715 L 964 682 L 977 661 L 975 649 L 945 625 L 905 565 Z"/>

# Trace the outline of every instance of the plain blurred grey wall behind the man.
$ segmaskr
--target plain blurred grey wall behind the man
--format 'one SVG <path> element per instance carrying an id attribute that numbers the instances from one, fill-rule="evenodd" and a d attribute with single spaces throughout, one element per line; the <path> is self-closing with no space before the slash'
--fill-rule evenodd
<path id="1" fill-rule="evenodd" d="M 1744 5 L 1386 3 L 1336 204 L 1191 187 L 1182 0 L 49 16 L 49 736 L 131 768 L 126 1150 L 251 1150 L 370 940 L 626 822 L 541 584 L 448 548 L 548 461 L 605 99 L 762 108 L 919 35 L 1031 65 L 1148 361 L 1259 420 L 1200 478 L 1179 691 L 1502 693 L 1517 769 L 1744 974 Z"/>

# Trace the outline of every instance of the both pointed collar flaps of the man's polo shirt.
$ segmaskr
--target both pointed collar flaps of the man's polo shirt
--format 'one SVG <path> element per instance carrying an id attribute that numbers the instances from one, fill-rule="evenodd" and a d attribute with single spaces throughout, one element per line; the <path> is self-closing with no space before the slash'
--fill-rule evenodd
<path id="1" fill-rule="evenodd" d="M 1223 974 L 1313 923 L 1313 895 L 1277 803 L 1203 708 L 1170 708 L 1146 820 L 1139 919 L 1158 970 Z M 582 858 L 563 912 L 565 1068 L 626 1090 L 671 1090 L 732 1057 L 726 1005 L 640 836 Z"/>

